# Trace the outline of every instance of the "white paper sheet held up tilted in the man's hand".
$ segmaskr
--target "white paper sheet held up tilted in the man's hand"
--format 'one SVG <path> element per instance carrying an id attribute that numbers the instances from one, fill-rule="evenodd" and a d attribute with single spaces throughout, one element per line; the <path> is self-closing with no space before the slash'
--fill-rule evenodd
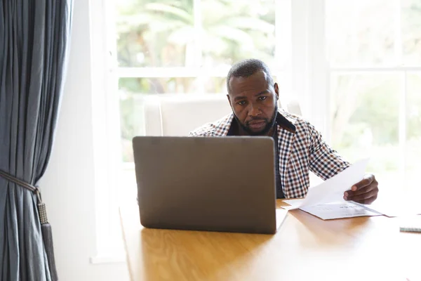
<path id="1" fill-rule="evenodd" d="M 352 166 L 349 166 L 349 168 L 336 176 L 329 178 L 313 188 L 309 188 L 306 197 L 300 204 L 293 203 L 293 206 L 283 207 L 283 209 L 291 210 L 330 202 L 345 202 L 343 200 L 344 192 L 363 179 L 367 164 L 368 159 L 363 159 L 352 164 Z"/>

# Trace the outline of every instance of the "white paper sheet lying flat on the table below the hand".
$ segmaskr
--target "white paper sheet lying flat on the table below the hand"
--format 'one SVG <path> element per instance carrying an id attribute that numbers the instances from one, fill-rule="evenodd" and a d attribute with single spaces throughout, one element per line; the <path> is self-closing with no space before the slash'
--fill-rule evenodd
<path id="1" fill-rule="evenodd" d="M 320 204 L 314 206 L 301 207 L 302 211 L 314 216 L 318 216 L 323 220 L 335 218 L 354 218 L 356 216 L 380 216 L 377 212 L 370 211 L 352 202 L 340 202 L 332 204 Z"/>

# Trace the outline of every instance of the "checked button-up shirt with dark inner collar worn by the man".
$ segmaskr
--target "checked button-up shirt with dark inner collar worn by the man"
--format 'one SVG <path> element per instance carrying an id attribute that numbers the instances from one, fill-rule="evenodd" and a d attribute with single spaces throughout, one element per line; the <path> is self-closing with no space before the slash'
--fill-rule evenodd
<path id="1" fill-rule="evenodd" d="M 205 124 L 189 136 L 227 136 L 233 114 Z M 278 126 L 279 174 L 286 198 L 305 197 L 309 189 L 309 171 L 326 180 L 349 166 L 338 152 L 330 148 L 319 131 L 305 119 L 279 109 Z"/>

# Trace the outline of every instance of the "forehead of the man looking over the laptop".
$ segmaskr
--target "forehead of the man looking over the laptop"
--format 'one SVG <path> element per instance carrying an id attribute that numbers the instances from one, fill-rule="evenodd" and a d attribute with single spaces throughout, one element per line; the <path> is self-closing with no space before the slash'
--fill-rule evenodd
<path id="1" fill-rule="evenodd" d="M 231 77 L 229 79 L 229 93 L 237 95 L 239 93 L 259 93 L 269 88 L 266 73 L 262 70 L 255 72 L 249 77 Z"/>

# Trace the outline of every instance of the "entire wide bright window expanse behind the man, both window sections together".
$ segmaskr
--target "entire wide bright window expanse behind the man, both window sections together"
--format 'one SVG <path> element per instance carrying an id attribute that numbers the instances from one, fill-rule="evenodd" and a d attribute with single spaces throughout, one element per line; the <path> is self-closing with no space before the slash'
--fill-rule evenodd
<path id="1" fill-rule="evenodd" d="M 380 188 L 416 186 L 421 0 L 104 2 L 112 14 L 107 106 L 119 119 L 107 129 L 121 148 L 110 161 L 119 165 L 109 171 L 120 171 L 113 208 L 135 198 L 131 139 L 145 131 L 145 96 L 224 94 L 229 67 L 250 57 L 268 63 L 281 95 L 292 93 L 340 154 L 371 156 Z M 119 233 L 112 219 L 107 230 Z"/>

